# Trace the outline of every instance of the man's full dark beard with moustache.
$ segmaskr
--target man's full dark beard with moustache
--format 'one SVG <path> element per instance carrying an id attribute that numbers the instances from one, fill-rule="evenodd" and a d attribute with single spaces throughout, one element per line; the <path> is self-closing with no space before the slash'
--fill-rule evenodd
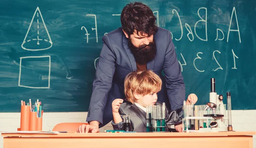
<path id="1" fill-rule="evenodd" d="M 136 62 L 139 64 L 145 64 L 146 62 L 153 60 L 157 54 L 157 47 L 154 40 L 153 42 L 149 42 L 148 45 L 135 47 L 129 38 L 128 46 L 130 47 L 131 53 L 134 55 Z"/>

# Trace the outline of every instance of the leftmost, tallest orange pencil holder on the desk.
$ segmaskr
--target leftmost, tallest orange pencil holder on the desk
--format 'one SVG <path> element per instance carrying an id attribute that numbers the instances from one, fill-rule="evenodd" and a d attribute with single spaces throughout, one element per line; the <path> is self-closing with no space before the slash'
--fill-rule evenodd
<path id="1" fill-rule="evenodd" d="M 29 106 L 21 106 L 20 109 L 20 131 L 29 131 Z"/>

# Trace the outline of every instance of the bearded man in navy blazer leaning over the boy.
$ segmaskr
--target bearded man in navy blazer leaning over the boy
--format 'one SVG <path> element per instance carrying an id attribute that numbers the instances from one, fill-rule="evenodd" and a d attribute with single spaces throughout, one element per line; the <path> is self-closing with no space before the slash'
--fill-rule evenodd
<path id="1" fill-rule="evenodd" d="M 157 27 L 155 20 L 148 6 L 130 3 L 121 13 L 122 28 L 103 36 L 87 116 L 90 125 L 79 126 L 78 132 L 99 132 L 113 119 L 111 104 L 116 98 L 125 99 L 125 76 L 135 70 L 151 69 L 160 76 L 158 101 L 172 110 L 183 105 L 185 85 L 170 31 Z M 182 125 L 175 128 L 180 131 Z"/>

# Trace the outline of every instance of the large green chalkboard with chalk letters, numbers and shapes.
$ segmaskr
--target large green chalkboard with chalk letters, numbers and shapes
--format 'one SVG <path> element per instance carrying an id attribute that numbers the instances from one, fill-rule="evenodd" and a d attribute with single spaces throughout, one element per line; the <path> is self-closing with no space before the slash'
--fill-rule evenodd
<path id="1" fill-rule="evenodd" d="M 45 112 L 86 112 L 102 36 L 121 26 L 129 0 L 1 0 L 0 112 L 20 101 Z M 143 0 L 172 33 L 186 97 L 231 92 L 232 109 L 256 109 L 255 0 Z"/>

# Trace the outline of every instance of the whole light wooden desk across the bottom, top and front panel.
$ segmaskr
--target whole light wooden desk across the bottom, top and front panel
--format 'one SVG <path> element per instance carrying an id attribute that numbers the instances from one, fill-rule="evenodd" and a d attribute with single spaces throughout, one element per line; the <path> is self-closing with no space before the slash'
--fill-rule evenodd
<path id="1" fill-rule="evenodd" d="M 4 148 L 253 148 L 254 131 L 2 134 Z"/>

